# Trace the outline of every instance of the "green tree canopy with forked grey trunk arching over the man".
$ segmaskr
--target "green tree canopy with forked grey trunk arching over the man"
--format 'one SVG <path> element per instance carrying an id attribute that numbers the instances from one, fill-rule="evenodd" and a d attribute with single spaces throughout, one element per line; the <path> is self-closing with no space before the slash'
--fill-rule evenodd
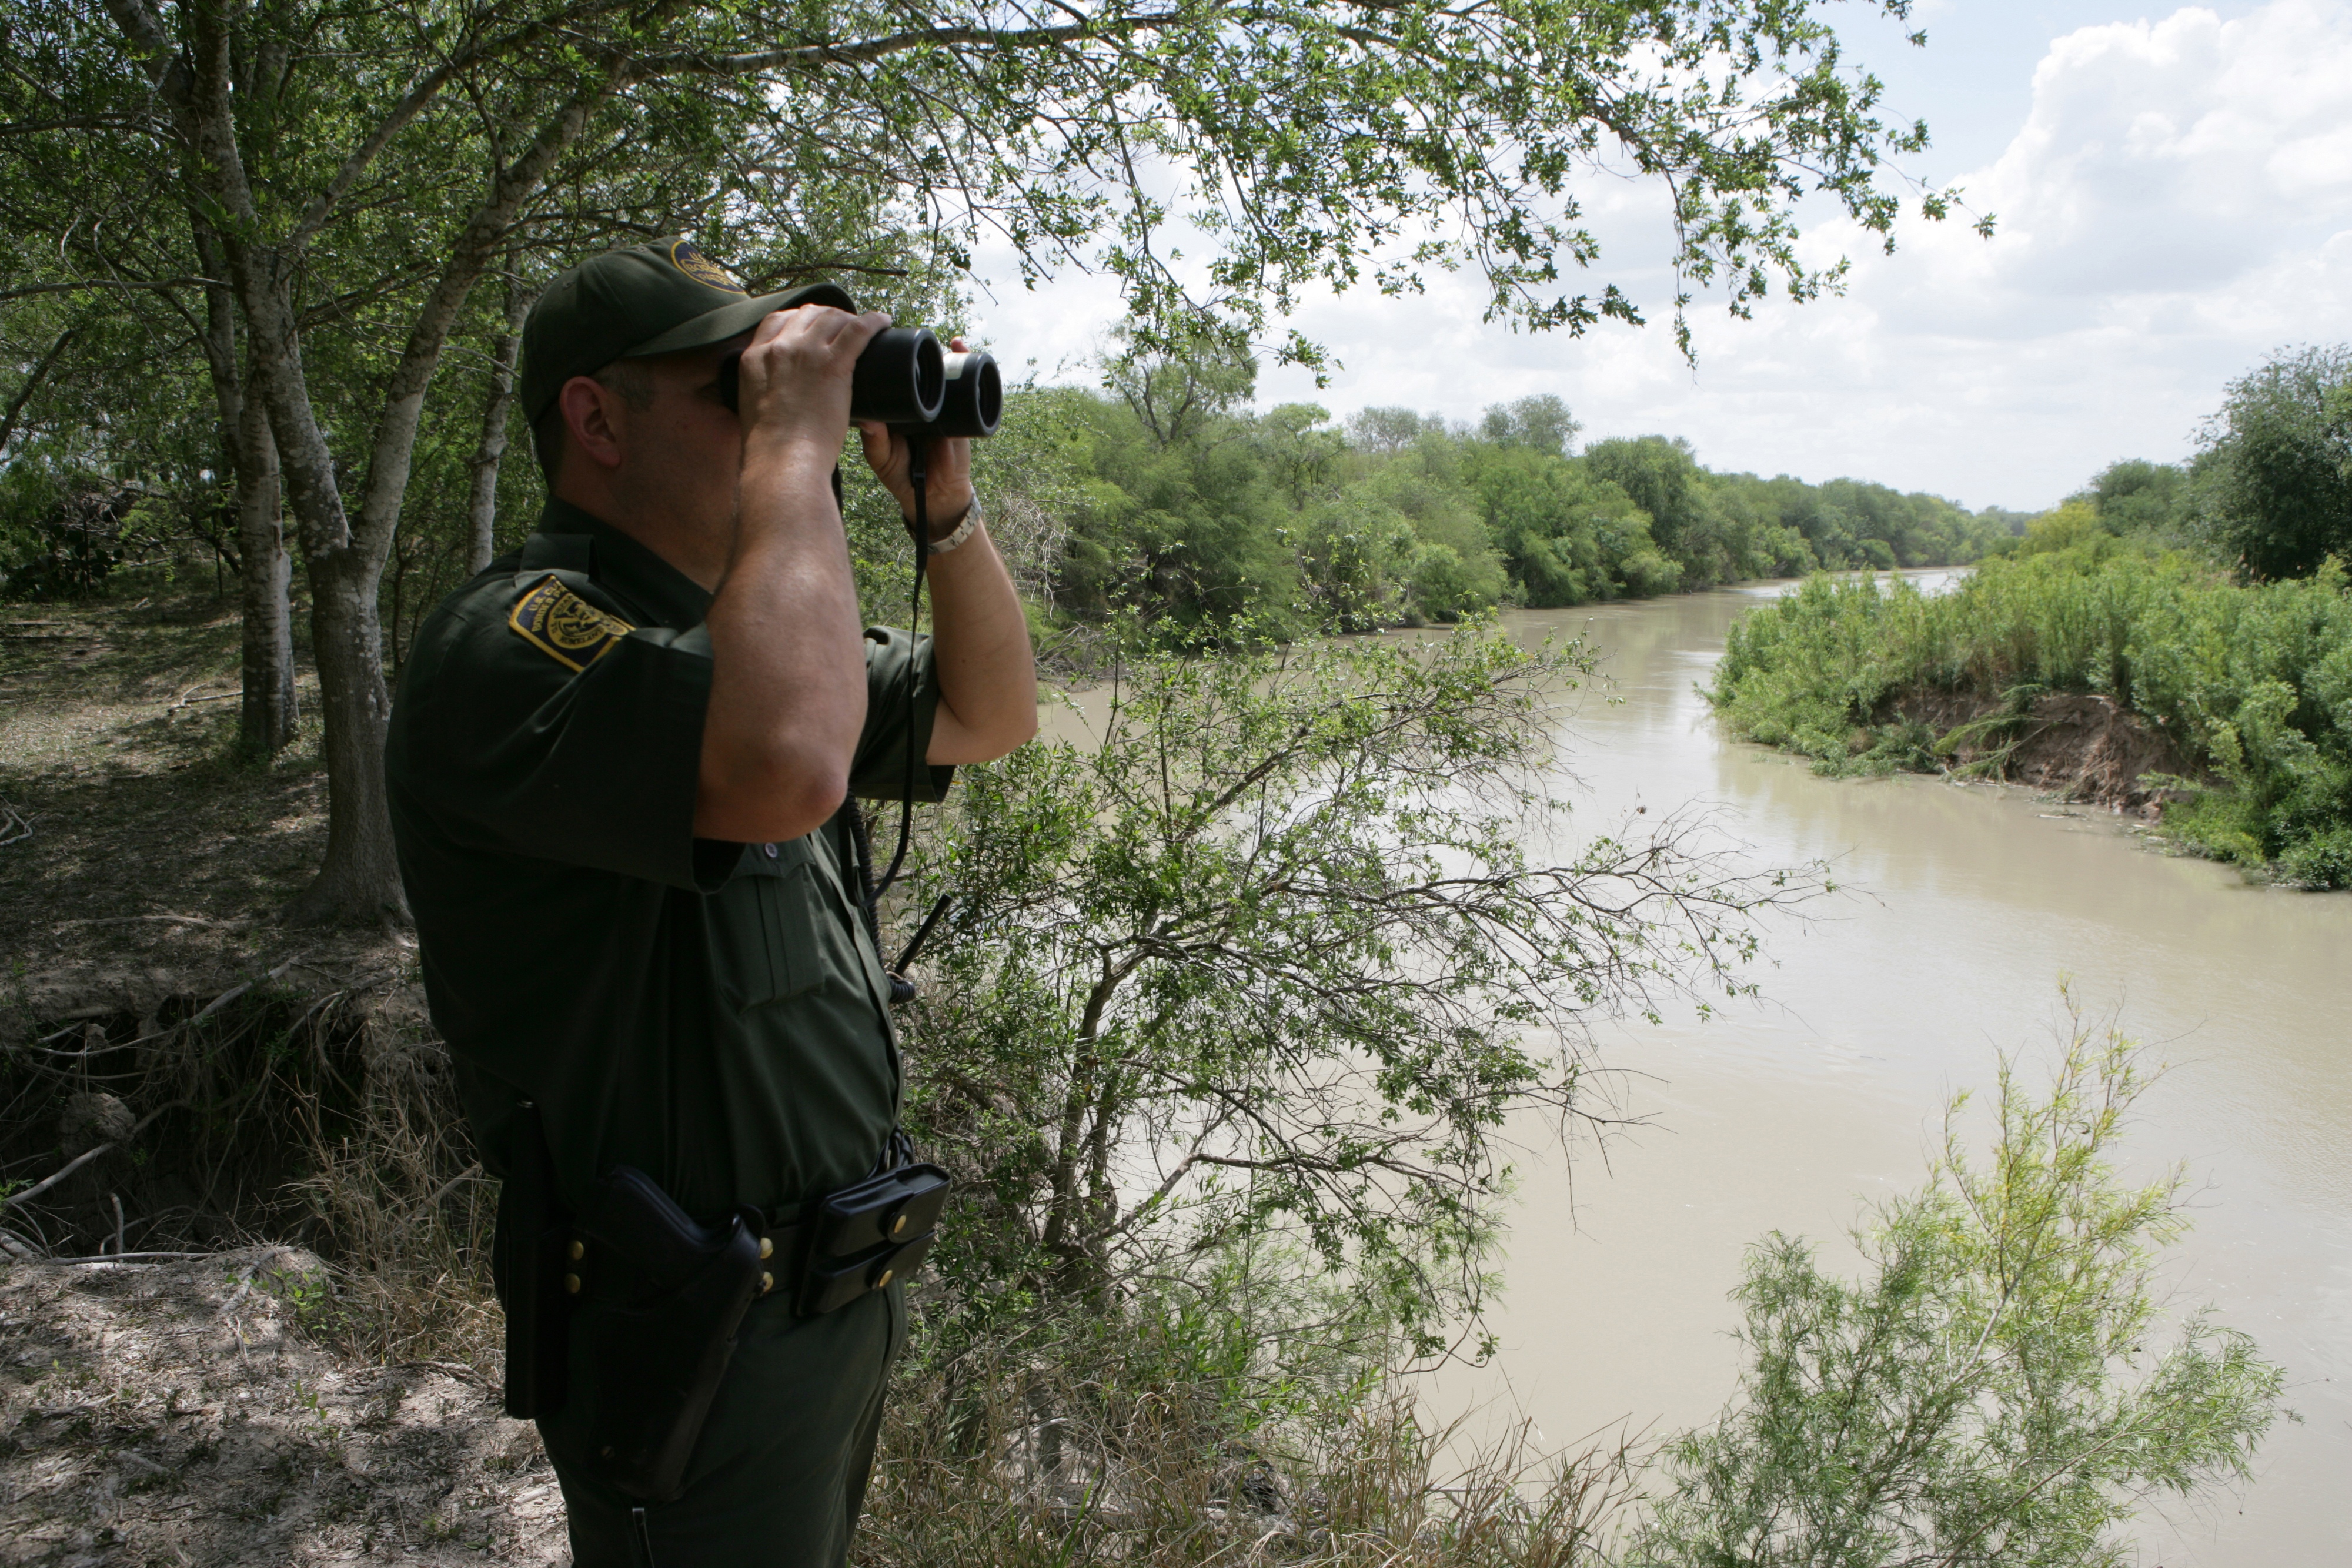
<path id="1" fill-rule="evenodd" d="M 1839 266 L 1797 254 L 1797 205 L 1891 235 L 1889 160 L 1924 146 L 1802 0 L 5 14 L 7 303 L 38 317 L 9 322 L 12 433 L 94 421 L 108 463 L 151 468 L 87 397 L 73 411 L 75 386 L 125 339 L 209 381 L 202 473 L 233 477 L 249 618 L 285 604 L 289 548 L 310 585 L 334 827 L 303 905 L 327 917 L 400 903 L 376 783 L 395 538 L 466 494 L 452 531 L 487 541 L 513 320 L 595 247 L 694 228 L 755 287 L 826 273 L 943 310 L 995 233 L 1025 282 L 1115 273 L 1145 346 L 1214 329 L 1235 348 L 1301 289 L 1470 268 L 1498 320 L 1583 331 L 1644 313 L 1599 270 L 1578 197 L 1632 174 L 1670 195 L 1658 303 L 1682 331 L 1700 287 L 1733 313 L 1832 287 Z M 1947 200 L 1919 195 L 1933 216 Z M 1298 336 L 1277 353 L 1319 362 Z M 292 691 L 252 679 L 287 658 L 282 628 L 247 658 L 249 705 Z"/>

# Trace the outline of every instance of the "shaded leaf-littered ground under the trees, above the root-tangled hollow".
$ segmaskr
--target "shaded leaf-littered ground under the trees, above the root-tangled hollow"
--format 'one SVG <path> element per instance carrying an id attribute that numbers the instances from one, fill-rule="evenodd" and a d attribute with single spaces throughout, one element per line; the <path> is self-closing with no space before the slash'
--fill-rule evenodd
<path id="1" fill-rule="evenodd" d="M 278 924 L 325 851 L 327 776 L 315 719 L 240 762 L 238 691 L 233 599 L 0 607 L 0 1039 L 397 947 Z M 303 670 L 306 717 L 315 693 Z"/>

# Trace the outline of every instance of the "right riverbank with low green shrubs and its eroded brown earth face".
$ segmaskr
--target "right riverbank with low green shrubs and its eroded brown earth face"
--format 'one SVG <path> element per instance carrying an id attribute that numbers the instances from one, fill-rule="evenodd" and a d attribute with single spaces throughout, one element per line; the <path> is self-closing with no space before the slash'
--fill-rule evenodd
<path id="1" fill-rule="evenodd" d="M 2352 886 L 2338 567 L 2246 588 L 2178 552 L 2070 548 L 1936 597 L 1813 578 L 1731 628 L 1708 701 L 1825 773 L 2032 783 L 2249 879 Z"/>

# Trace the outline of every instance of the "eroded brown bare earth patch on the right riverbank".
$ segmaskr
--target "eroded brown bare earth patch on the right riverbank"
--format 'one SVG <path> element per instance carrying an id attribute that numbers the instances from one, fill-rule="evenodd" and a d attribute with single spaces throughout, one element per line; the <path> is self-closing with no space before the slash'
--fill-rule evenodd
<path id="1" fill-rule="evenodd" d="M 2157 820 L 2185 799 L 2164 778 L 2197 769 L 2143 715 L 2096 691 L 2046 691 L 2004 717 L 2006 701 L 1971 691 L 1907 691 L 1893 715 L 1924 724 L 1955 771 L 2044 790 L 2058 799 Z"/>

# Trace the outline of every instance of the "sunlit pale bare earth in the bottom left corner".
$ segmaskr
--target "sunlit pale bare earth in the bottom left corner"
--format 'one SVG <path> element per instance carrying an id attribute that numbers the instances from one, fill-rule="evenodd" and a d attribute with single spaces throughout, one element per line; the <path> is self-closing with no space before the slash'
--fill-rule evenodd
<path id="1" fill-rule="evenodd" d="M 318 1258 L 0 1262 L 0 1563 L 560 1563 L 527 1422 L 296 1333 Z"/>

